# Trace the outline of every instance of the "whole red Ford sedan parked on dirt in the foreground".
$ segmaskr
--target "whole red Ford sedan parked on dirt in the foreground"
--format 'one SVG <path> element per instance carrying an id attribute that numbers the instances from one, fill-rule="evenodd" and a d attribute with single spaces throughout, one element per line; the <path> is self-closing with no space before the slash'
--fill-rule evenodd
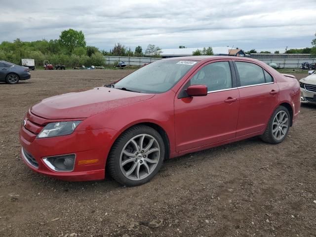
<path id="1" fill-rule="evenodd" d="M 86 181 L 108 172 L 148 182 L 164 159 L 249 137 L 282 142 L 300 112 L 300 85 L 249 58 L 192 56 L 146 65 L 111 85 L 50 97 L 20 128 L 34 171 Z"/>

